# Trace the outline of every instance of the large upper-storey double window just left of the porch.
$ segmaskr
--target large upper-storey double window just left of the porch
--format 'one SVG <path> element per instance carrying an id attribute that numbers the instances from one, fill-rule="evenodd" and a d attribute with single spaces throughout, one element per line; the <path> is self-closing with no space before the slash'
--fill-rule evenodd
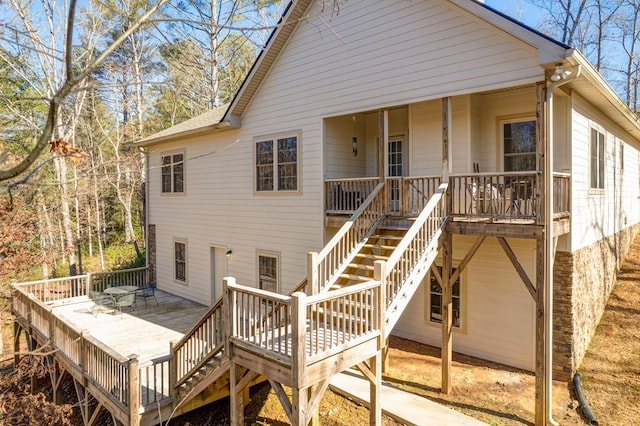
<path id="1" fill-rule="evenodd" d="M 256 142 L 256 191 L 297 191 L 298 149 L 297 135 Z"/>

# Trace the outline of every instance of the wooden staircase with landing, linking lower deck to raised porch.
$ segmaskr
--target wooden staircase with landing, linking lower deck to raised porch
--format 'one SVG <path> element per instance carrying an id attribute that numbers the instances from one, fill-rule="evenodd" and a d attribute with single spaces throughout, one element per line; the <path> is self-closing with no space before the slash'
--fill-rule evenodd
<path id="1" fill-rule="evenodd" d="M 260 376 L 274 386 L 292 422 L 306 422 L 308 413 L 296 409 L 317 404 L 331 375 L 353 365 L 366 370 L 379 356 L 435 261 L 447 221 L 446 189 L 405 220 L 385 215 L 380 184 L 327 246 L 310 254 L 309 275 L 290 296 L 225 282 L 229 307 L 221 299 L 172 347 L 174 409 L 192 406 L 214 383 L 228 383 L 238 410 L 239 389 Z M 313 383 L 319 386 L 313 398 L 302 396 Z M 294 388 L 296 401 L 288 401 L 281 384 Z"/>

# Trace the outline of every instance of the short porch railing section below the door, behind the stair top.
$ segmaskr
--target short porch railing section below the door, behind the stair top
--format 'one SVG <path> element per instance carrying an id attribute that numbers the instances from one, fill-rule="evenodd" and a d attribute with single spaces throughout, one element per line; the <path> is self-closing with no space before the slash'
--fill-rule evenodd
<path id="1" fill-rule="evenodd" d="M 440 176 L 399 176 L 386 178 L 388 214 L 417 216 L 440 185 Z"/>

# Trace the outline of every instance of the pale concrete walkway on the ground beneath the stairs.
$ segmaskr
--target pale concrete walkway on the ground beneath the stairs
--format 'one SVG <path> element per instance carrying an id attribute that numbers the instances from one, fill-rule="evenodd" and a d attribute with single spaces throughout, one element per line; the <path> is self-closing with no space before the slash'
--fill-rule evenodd
<path id="1" fill-rule="evenodd" d="M 359 371 L 348 370 L 333 376 L 330 383 L 332 391 L 369 406 L 369 381 Z M 433 401 L 402 391 L 387 383 L 382 383 L 380 401 L 382 412 L 406 425 L 443 426 L 464 425 L 482 426 L 486 423 L 466 416 Z"/>

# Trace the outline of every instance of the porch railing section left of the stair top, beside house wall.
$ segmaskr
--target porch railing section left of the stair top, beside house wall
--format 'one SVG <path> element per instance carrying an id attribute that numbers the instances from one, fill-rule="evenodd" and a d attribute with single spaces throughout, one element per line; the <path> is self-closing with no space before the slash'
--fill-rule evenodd
<path id="1" fill-rule="evenodd" d="M 358 210 L 378 183 L 377 177 L 325 180 L 325 212 L 352 214 Z"/>

